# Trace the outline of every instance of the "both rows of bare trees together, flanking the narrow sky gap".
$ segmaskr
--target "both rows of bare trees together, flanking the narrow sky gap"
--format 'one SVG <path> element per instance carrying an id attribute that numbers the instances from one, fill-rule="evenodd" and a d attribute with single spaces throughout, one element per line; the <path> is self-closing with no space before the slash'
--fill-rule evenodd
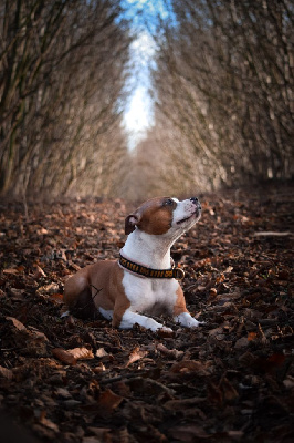
<path id="1" fill-rule="evenodd" d="M 155 125 L 132 153 L 122 0 L 0 3 L 0 194 L 144 198 L 293 177 L 293 2 L 164 1 L 149 27 Z"/>

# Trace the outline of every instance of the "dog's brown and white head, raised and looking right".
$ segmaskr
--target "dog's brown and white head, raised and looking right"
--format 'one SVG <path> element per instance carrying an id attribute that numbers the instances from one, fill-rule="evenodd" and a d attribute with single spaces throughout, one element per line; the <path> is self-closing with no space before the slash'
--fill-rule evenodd
<path id="1" fill-rule="evenodd" d="M 125 234 L 140 229 L 151 235 L 179 237 L 201 216 L 197 197 L 179 202 L 177 198 L 156 197 L 145 202 L 125 222 Z"/>

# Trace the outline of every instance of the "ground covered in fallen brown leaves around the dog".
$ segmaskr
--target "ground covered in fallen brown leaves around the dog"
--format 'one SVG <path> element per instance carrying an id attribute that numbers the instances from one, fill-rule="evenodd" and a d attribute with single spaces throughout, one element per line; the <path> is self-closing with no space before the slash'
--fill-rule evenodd
<path id="1" fill-rule="evenodd" d="M 41 441 L 293 442 L 291 186 L 204 195 L 172 249 L 189 310 L 164 337 L 61 319 L 65 279 L 118 257 L 120 200 L 1 205 L 0 402 Z M 276 235 L 283 234 L 283 235 Z"/>

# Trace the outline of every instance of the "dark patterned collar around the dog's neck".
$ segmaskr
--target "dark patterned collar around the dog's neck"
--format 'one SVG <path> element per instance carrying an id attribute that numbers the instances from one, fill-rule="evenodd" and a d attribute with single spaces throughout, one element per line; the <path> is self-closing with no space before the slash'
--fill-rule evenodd
<path id="1" fill-rule="evenodd" d="M 119 254 L 119 265 L 127 270 L 138 274 L 143 277 L 149 278 L 176 278 L 177 280 L 182 280 L 185 277 L 185 272 L 181 268 L 176 268 L 175 266 L 169 269 L 153 269 L 147 268 L 146 266 L 138 265 L 134 261 L 127 260 L 125 257 Z"/>

